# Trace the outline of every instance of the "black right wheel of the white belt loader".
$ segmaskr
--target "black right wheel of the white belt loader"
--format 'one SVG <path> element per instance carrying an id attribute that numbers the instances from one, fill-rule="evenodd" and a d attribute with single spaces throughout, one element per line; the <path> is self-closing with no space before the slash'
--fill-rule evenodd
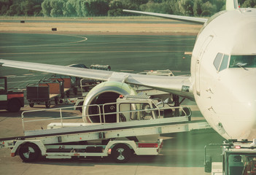
<path id="1" fill-rule="evenodd" d="M 111 150 L 111 157 L 116 163 L 126 163 L 131 158 L 131 149 L 126 144 L 117 144 Z"/>

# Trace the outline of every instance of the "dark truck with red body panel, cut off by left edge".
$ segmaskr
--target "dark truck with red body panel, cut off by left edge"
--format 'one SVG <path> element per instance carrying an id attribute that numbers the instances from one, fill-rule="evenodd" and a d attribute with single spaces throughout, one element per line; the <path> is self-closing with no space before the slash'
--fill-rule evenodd
<path id="1" fill-rule="evenodd" d="M 7 77 L 0 77 L 0 109 L 19 112 L 24 106 L 23 90 L 7 89 Z"/>

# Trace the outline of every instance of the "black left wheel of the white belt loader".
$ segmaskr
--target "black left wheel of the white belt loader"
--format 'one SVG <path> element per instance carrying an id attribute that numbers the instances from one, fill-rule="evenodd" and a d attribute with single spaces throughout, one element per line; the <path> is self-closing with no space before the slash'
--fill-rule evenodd
<path id="1" fill-rule="evenodd" d="M 24 144 L 20 147 L 19 155 L 24 162 L 32 162 L 38 160 L 41 151 L 36 144 Z"/>

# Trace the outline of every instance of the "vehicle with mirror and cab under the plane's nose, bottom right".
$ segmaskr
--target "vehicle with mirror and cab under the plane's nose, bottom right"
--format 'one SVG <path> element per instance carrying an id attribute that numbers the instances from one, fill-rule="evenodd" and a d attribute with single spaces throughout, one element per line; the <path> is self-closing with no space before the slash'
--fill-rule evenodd
<path id="1" fill-rule="evenodd" d="M 222 147 L 222 162 L 212 162 L 207 148 Z M 256 139 L 253 141 L 224 141 L 223 144 L 209 144 L 205 147 L 205 171 L 212 175 L 255 175 Z M 208 150 L 209 151 L 209 150 Z"/>

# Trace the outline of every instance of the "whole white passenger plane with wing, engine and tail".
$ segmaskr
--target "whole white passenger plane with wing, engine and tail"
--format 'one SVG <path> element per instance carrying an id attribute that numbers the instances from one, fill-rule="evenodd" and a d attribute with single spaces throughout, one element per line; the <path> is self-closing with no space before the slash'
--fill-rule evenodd
<path id="1" fill-rule="evenodd" d="M 225 139 L 256 139 L 256 9 L 238 9 L 236 0 L 228 0 L 226 10 L 209 19 L 125 11 L 203 24 L 193 49 L 191 77 L 157 77 L 3 59 L 0 65 L 104 80 L 88 93 L 84 105 L 112 102 L 120 94 L 133 94 L 128 84 L 163 90 L 195 100 L 203 117 Z M 83 109 L 84 116 L 92 112 L 88 107 Z M 88 120 L 94 122 L 93 118 Z"/>

